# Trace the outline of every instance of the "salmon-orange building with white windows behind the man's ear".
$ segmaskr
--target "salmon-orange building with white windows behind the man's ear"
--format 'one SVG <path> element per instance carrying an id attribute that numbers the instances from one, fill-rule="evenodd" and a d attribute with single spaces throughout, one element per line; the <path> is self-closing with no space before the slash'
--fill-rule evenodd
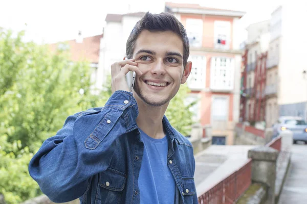
<path id="1" fill-rule="evenodd" d="M 166 11 L 183 23 L 189 37 L 192 72 L 187 83 L 191 100 L 199 100 L 196 118 L 212 126 L 213 144 L 232 144 L 242 62 L 238 20 L 245 13 L 174 3 L 166 3 Z"/>

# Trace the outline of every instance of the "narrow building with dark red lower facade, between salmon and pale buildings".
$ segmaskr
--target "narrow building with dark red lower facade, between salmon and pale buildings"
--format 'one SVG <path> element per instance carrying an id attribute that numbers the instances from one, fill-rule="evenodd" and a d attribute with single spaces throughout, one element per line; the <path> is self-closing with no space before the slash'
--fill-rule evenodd
<path id="1" fill-rule="evenodd" d="M 270 21 L 249 25 L 248 39 L 243 63 L 241 94 L 241 121 L 248 121 L 260 129 L 265 127 L 266 118 L 266 62 L 270 40 Z"/>

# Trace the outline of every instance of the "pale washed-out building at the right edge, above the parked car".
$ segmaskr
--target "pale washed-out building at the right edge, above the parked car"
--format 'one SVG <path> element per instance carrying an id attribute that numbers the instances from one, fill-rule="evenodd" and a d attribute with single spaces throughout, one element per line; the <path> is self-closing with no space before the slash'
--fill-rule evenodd
<path id="1" fill-rule="evenodd" d="M 286 2 L 278 7 L 270 20 L 270 43 L 267 61 L 267 126 L 279 116 L 306 118 L 307 66 L 305 56 L 307 3 Z M 296 43 L 296 41 L 299 43 Z"/>

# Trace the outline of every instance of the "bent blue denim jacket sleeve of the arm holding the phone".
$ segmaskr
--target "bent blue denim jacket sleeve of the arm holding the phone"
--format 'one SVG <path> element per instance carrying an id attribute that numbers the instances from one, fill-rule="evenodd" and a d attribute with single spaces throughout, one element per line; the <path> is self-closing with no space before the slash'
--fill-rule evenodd
<path id="1" fill-rule="evenodd" d="M 87 181 L 107 169 L 114 153 L 113 142 L 126 133 L 127 125 L 133 124 L 137 115 L 132 93 L 116 91 L 102 109 L 69 116 L 30 161 L 31 177 L 54 202 L 81 197 Z"/>

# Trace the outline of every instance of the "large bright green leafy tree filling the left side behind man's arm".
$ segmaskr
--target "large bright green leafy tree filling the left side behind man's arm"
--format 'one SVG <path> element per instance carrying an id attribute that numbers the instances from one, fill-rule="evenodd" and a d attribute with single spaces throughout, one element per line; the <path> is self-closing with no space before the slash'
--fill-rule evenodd
<path id="1" fill-rule="evenodd" d="M 0 192 L 8 203 L 41 193 L 28 173 L 33 154 L 67 116 L 103 106 L 111 90 L 91 94 L 88 62 L 72 63 L 68 50 L 53 55 L 23 36 L 0 31 Z"/>

